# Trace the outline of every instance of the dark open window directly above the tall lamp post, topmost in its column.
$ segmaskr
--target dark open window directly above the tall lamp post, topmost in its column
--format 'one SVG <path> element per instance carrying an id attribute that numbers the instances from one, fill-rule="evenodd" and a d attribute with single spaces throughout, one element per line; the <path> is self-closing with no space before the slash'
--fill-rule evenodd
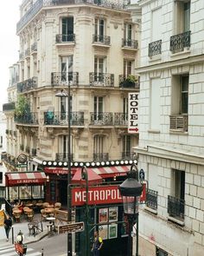
<path id="1" fill-rule="evenodd" d="M 63 17 L 61 19 L 62 42 L 72 41 L 73 39 L 73 16 Z"/>

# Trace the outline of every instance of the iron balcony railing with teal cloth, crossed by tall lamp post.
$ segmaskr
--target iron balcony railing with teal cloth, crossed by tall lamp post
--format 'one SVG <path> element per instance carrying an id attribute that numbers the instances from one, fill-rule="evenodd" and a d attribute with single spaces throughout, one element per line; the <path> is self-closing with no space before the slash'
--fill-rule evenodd
<path id="1" fill-rule="evenodd" d="M 44 112 L 45 125 L 68 125 L 68 112 Z M 84 125 L 84 112 L 71 112 L 70 125 Z"/>

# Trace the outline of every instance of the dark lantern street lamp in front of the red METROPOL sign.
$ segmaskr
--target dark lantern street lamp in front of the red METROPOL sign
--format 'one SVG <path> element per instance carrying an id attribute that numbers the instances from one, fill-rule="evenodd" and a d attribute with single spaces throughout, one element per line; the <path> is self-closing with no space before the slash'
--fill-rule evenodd
<path id="1" fill-rule="evenodd" d="M 138 256 L 138 204 L 139 198 L 143 191 L 143 186 L 138 182 L 137 166 L 133 164 L 131 171 L 128 173 L 128 178 L 119 185 L 119 191 L 123 199 L 124 214 L 127 215 L 129 222 L 128 236 L 128 256 L 132 256 L 132 236 L 131 231 L 134 224 L 137 222 L 137 245 L 136 256 Z"/>

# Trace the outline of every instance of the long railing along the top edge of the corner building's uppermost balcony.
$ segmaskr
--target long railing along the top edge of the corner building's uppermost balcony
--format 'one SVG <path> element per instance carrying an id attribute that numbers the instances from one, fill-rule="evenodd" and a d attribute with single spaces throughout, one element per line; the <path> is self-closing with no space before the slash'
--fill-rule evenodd
<path id="1" fill-rule="evenodd" d="M 29 23 L 29 21 L 41 10 L 43 7 L 55 6 L 55 5 L 72 5 L 72 4 L 88 4 L 99 5 L 106 8 L 126 10 L 128 1 L 116 1 L 114 0 L 37 0 L 25 13 L 24 16 L 16 25 L 17 33 Z"/>

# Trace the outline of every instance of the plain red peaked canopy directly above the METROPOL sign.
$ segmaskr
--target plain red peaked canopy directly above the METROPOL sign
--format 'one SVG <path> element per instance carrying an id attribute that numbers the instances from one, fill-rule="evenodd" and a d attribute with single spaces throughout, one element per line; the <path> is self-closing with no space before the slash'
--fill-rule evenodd
<path id="1" fill-rule="evenodd" d="M 92 168 L 87 168 L 87 174 L 89 183 L 100 183 L 103 181 L 103 179 L 96 174 Z M 78 168 L 76 173 L 73 175 L 72 183 L 85 183 L 84 180 L 81 181 L 81 168 Z"/>

